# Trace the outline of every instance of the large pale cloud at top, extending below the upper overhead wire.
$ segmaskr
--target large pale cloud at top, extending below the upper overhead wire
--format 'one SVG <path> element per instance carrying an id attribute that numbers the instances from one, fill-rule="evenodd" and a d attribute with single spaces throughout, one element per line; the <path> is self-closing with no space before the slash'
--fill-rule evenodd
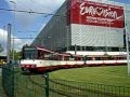
<path id="1" fill-rule="evenodd" d="M 29 12 L 39 13 L 53 13 L 55 12 L 65 0 L 5 0 L 11 9 L 23 10 Z M 52 4 L 53 3 L 53 4 Z M 14 15 L 14 12 L 12 12 Z M 44 14 L 46 15 L 46 14 Z M 15 12 L 15 19 L 23 27 L 29 27 L 35 24 L 35 20 L 42 17 L 43 14 L 32 14 L 32 13 L 18 13 Z"/>

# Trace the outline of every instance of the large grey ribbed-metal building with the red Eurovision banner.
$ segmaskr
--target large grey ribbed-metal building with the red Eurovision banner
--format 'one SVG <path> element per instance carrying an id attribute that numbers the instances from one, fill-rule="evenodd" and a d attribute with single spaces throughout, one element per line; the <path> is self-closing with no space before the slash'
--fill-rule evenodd
<path id="1" fill-rule="evenodd" d="M 79 55 L 118 55 L 126 50 L 130 27 L 127 9 L 114 1 L 66 0 L 32 45 Z"/>

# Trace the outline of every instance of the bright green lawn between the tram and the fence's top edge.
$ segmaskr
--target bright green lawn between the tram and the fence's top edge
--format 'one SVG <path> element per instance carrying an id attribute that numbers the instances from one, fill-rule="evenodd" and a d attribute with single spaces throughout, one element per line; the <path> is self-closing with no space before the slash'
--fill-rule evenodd
<path id="1" fill-rule="evenodd" d="M 130 75 L 127 74 L 127 66 L 64 69 L 51 72 L 50 78 L 130 87 Z"/>

